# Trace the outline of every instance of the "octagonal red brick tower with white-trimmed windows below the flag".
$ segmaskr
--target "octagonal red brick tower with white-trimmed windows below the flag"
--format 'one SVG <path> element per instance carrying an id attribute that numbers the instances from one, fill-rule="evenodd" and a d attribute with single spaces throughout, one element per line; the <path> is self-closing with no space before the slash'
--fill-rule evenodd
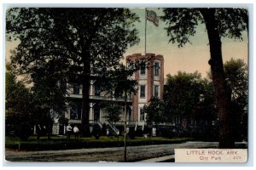
<path id="1" fill-rule="evenodd" d="M 164 94 L 164 58 L 163 55 L 155 54 L 132 54 L 126 57 L 126 60 L 136 61 L 139 59 L 148 59 L 148 67 L 141 66 L 139 71 L 133 74 L 133 79 L 137 80 L 139 88 L 137 94 L 132 97 L 132 119 L 139 125 L 145 121 L 143 106 L 148 105 L 151 97 L 163 99 Z"/>

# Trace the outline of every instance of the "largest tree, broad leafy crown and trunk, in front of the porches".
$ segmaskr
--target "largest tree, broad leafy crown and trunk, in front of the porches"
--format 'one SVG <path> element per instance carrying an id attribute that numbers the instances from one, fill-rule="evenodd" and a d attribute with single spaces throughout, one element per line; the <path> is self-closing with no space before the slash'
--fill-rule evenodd
<path id="1" fill-rule="evenodd" d="M 59 67 L 51 71 L 82 84 L 82 134 L 89 136 L 90 79 L 108 77 L 139 41 L 138 17 L 128 8 L 10 8 L 6 16 L 7 33 L 20 39 L 12 55 L 16 68 L 37 75 L 52 61 Z"/>

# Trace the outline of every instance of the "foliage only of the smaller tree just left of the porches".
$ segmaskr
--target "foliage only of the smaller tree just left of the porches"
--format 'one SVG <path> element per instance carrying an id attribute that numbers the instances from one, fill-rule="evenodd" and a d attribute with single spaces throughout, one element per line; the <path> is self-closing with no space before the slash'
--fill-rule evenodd
<path id="1" fill-rule="evenodd" d="M 38 107 L 59 116 L 67 108 L 67 77 L 60 77 L 51 66 L 59 65 L 51 62 L 32 74 L 32 93 Z"/>

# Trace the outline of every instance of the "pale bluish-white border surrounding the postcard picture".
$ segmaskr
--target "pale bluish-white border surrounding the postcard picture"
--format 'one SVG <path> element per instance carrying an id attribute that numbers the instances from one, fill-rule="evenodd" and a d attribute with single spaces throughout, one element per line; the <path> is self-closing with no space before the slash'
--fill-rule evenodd
<path id="1" fill-rule="evenodd" d="M 125 163 L 119 163 L 119 164 L 98 164 L 96 165 L 95 163 L 91 164 L 91 163 L 82 163 L 79 165 L 73 165 L 73 163 L 46 163 L 46 164 L 38 164 L 38 163 L 6 163 L 6 162 L 2 162 L 2 166 L 3 169 L 13 169 L 18 167 L 19 169 L 21 168 L 26 168 L 26 169 L 34 169 L 36 166 L 36 168 L 38 169 L 43 169 L 44 167 L 38 167 L 38 166 L 47 166 L 50 168 L 56 168 L 56 167 L 61 167 L 61 169 L 70 169 L 70 167 L 73 166 L 97 166 L 97 167 L 104 167 L 107 169 L 119 169 L 120 166 L 122 169 L 129 169 L 131 170 L 131 166 L 133 167 L 146 167 L 148 169 L 155 169 L 155 167 L 160 166 L 163 169 L 170 169 L 170 166 L 172 167 L 176 167 L 177 169 L 183 169 L 183 167 L 189 167 L 189 168 L 196 168 L 196 169 L 205 169 L 205 167 L 207 168 L 216 168 L 216 167 L 232 167 L 232 169 L 240 169 L 242 168 L 246 168 L 246 169 L 253 169 L 253 167 L 255 166 L 255 162 L 253 165 L 253 155 L 255 154 L 255 147 L 253 146 L 253 141 L 255 141 L 255 135 L 253 136 L 253 132 L 255 132 L 255 126 L 253 126 L 253 122 L 256 122 L 255 117 L 253 116 L 253 104 L 254 104 L 254 96 L 255 96 L 255 92 L 253 90 L 253 85 L 255 84 L 255 80 L 253 79 L 253 75 L 255 75 L 255 69 L 253 69 L 253 65 L 255 65 L 255 59 L 253 59 L 253 52 L 254 52 L 254 44 L 253 42 L 255 41 L 255 22 L 253 22 L 253 18 L 255 20 L 255 1 L 254 0 L 243 0 L 243 1 L 234 1 L 234 0 L 210 0 L 210 1 L 203 1 L 203 0 L 198 0 L 196 1 L 196 3 L 191 3 L 191 1 L 189 0 L 172 0 L 172 3 L 170 3 L 170 0 L 158 0 L 158 1 L 154 1 L 154 2 L 148 2 L 147 0 L 130 0 L 130 1 L 119 1 L 119 0 L 113 0 L 113 1 L 104 1 L 104 0 L 98 0 L 98 1 L 86 1 L 86 3 L 84 3 L 84 1 L 82 0 L 73 0 L 73 1 L 53 1 L 53 0 L 44 0 L 44 1 L 39 1 L 38 3 L 35 3 L 34 0 L 24 0 L 24 1 L 19 1 L 19 0 L 3 0 L 3 3 L 0 7 L 0 11 L 2 11 L 1 13 L 1 17 L 0 17 L 0 22 L 2 23 L 2 31 L 0 31 L 0 35 L 1 35 L 1 40 L 2 40 L 2 44 L 0 49 L 1 49 L 1 54 L 2 56 L 5 56 L 5 51 L 4 51 L 4 11 L 6 8 L 9 7 L 14 7 L 14 6 L 23 6 L 23 7 L 29 7 L 29 6 L 37 6 L 37 7 L 57 7 L 57 6 L 61 6 L 61 7 L 80 7 L 81 4 L 83 6 L 88 6 L 88 7 L 166 7 L 166 6 L 171 6 L 172 7 L 230 7 L 230 5 L 232 7 L 247 7 L 249 9 L 249 13 L 250 13 L 250 26 L 249 26 L 249 32 L 250 32 L 250 41 L 249 41 L 249 160 L 247 161 L 247 163 L 245 164 L 215 164 L 215 163 L 207 163 L 207 164 L 180 164 L 180 163 L 164 163 L 164 164 L 125 164 Z M 192 1 L 194 2 L 194 1 Z M 13 3 L 13 4 L 11 4 Z M 16 4 L 15 4 L 16 3 Z M 65 4 L 66 3 L 66 4 Z M 229 4 L 231 3 L 231 4 Z M 251 3 L 250 4 L 246 4 L 246 3 Z M 253 10 L 254 9 L 254 10 Z M 1 75 L 2 78 L 0 78 L 0 84 L 1 84 L 1 94 L 2 97 L 0 98 L 1 100 L 1 104 L 3 107 L 1 107 L 1 113 L 4 113 L 4 64 L 5 64 L 5 58 L 2 57 L 2 62 L 1 62 Z M 0 124 L 4 124 L 3 123 L 3 116 L 0 116 Z M 4 128 L 2 128 L 4 129 Z M 2 139 L 0 140 L 0 145 L 1 147 L 3 147 L 3 130 L 0 131 L 0 135 L 2 137 Z M 4 151 L 4 147 L 3 147 L 3 151 Z M 252 153 L 253 151 L 253 153 Z M 0 158 L 3 158 L 3 152 L 0 151 Z M 3 160 L 2 160 L 3 161 Z M 6 166 L 10 166 L 10 167 L 6 167 Z M 127 167 L 128 166 L 128 167 Z M 162 167 L 164 166 L 164 167 Z M 211 167 L 213 166 L 213 167 Z M 75 167 L 78 169 L 84 169 L 86 167 Z"/>

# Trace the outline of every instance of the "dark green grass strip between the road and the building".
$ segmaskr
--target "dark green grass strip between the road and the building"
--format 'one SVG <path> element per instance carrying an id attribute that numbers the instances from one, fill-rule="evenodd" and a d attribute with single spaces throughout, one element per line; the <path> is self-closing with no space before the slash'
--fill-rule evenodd
<path id="1" fill-rule="evenodd" d="M 175 144 L 182 143 L 189 138 L 173 138 L 167 139 L 163 137 L 143 138 L 136 137 L 135 139 L 127 139 L 126 144 L 129 145 L 148 145 L 148 144 Z M 69 150 L 81 148 L 104 148 L 104 147 L 121 147 L 124 146 L 124 137 L 106 137 L 102 136 L 100 139 L 95 138 L 79 138 L 75 140 L 74 137 L 67 139 L 66 136 L 51 136 L 37 137 L 32 136 L 26 141 L 18 138 L 5 138 L 5 147 L 12 150 Z"/>

